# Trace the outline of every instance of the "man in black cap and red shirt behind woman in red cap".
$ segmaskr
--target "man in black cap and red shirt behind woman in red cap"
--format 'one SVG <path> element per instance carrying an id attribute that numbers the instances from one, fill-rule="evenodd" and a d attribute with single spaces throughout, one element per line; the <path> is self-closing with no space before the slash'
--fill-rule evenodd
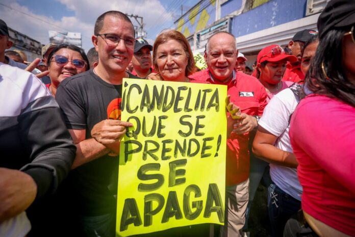
<path id="1" fill-rule="evenodd" d="M 297 62 L 286 64 L 286 72 L 282 78 L 283 81 L 299 82 L 305 79 L 305 75 L 301 71 L 302 48 L 315 34 L 317 34 L 316 31 L 306 29 L 297 32 L 293 36 L 286 49 L 289 49 L 290 53 L 296 56 L 298 60 Z"/>

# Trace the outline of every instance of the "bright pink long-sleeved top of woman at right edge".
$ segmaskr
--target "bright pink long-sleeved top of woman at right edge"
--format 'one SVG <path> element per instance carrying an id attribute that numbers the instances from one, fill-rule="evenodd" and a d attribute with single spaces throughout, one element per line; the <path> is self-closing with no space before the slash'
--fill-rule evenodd
<path id="1" fill-rule="evenodd" d="M 297 106 L 289 134 L 299 163 L 302 209 L 355 236 L 355 108 L 313 94 Z"/>

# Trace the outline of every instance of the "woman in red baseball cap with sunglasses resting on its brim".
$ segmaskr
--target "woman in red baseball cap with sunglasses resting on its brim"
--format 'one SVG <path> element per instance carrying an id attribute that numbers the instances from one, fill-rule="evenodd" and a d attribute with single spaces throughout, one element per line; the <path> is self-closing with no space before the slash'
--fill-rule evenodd
<path id="1" fill-rule="evenodd" d="M 293 82 L 281 81 L 285 74 L 286 63 L 297 61 L 297 58 L 290 54 L 288 48 L 283 49 L 277 44 L 265 47 L 258 54 L 254 76 L 265 86 L 268 102 L 274 94 L 293 84 Z"/>

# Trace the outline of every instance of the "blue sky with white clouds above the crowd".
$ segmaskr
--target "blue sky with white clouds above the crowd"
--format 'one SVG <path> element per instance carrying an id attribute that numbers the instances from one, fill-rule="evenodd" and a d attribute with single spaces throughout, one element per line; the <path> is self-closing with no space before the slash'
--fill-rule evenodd
<path id="1" fill-rule="evenodd" d="M 143 17 L 146 39 L 153 44 L 160 31 L 174 28 L 174 21 L 199 0 L 0 0 L 0 18 L 8 27 L 43 44 L 48 31 L 80 32 L 82 48 L 93 45 L 91 36 L 96 18 L 110 10 Z M 134 25 L 137 22 L 131 19 Z"/>

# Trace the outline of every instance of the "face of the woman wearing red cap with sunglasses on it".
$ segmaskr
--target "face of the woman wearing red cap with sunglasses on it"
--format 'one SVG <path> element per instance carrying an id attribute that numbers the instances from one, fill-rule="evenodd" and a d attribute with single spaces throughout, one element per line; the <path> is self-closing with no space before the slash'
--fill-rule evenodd
<path id="1" fill-rule="evenodd" d="M 286 70 L 286 60 L 277 62 L 267 62 L 265 66 L 260 66 L 260 81 L 275 85 L 279 83 Z"/>

